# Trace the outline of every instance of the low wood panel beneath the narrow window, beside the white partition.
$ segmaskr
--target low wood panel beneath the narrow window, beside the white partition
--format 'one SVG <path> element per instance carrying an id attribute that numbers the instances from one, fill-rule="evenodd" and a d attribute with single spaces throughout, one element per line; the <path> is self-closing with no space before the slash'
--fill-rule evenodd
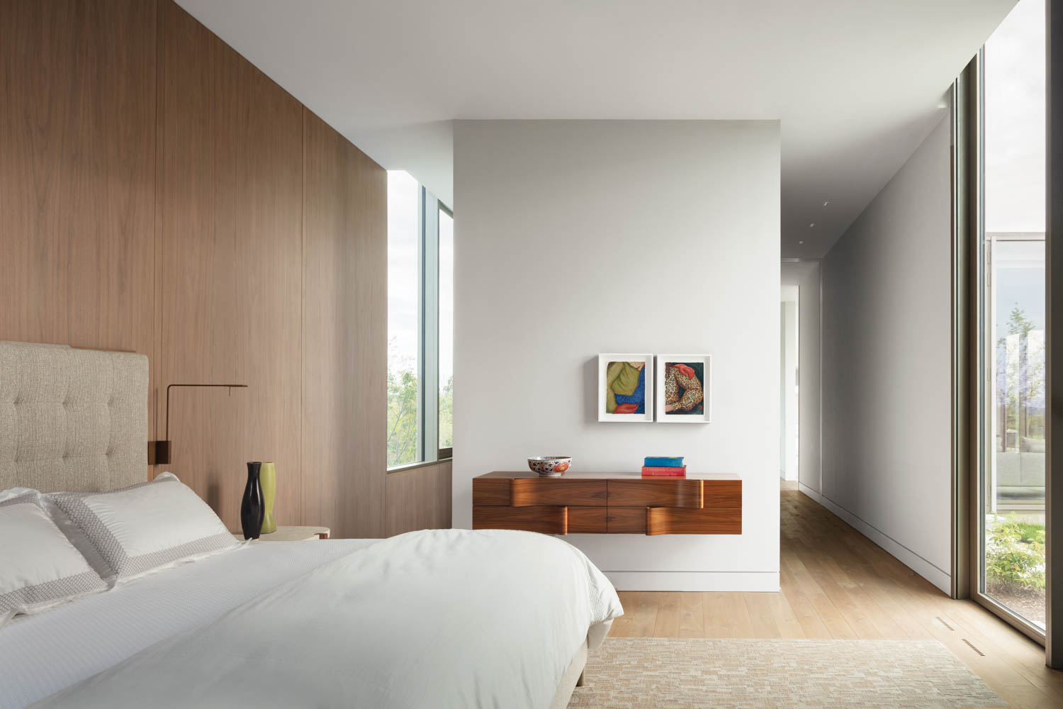
<path id="1" fill-rule="evenodd" d="M 385 535 L 451 527 L 451 461 L 387 474 Z"/>

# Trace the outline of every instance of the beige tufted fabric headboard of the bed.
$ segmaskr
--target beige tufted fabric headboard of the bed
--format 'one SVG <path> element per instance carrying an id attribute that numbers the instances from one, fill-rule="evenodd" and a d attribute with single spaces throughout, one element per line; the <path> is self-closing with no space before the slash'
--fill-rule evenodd
<path id="1" fill-rule="evenodd" d="M 148 479 L 148 357 L 0 341 L 0 490 Z"/>

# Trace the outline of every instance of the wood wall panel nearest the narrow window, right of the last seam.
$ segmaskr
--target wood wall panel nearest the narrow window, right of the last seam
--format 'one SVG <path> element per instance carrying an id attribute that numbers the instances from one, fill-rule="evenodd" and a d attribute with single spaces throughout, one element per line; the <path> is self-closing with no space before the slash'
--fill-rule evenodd
<path id="1" fill-rule="evenodd" d="M 379 537 L 387 469 L 387 172 L 303 112 L 303 514 L 337 537 Z M 395 489 L 409 493 L 407 486 Z"/>

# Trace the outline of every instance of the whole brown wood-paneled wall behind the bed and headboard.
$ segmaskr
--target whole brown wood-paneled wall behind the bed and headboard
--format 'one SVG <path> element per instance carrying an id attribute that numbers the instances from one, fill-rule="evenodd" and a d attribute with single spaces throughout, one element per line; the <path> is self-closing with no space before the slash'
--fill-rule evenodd
<path id="1" fill-rule="evenodd" d="M 0 339 L 148 354 L 156 438 L 168 384 L 247 384 L 173 390 L 166 469 L 383 536 L 385 170 L 171 0 L 4 0 L 0 61 Z"/>

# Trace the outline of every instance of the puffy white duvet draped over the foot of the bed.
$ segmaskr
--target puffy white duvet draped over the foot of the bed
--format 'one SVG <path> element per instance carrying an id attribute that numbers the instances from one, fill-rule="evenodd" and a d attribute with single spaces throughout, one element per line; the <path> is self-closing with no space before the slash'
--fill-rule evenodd
<path id="1" fill-rule="evenodd" d="M 394 537 L 319 567 L 37 707 L 550 705 L 623 613 L 570 544 L 527 531 Z"/>

